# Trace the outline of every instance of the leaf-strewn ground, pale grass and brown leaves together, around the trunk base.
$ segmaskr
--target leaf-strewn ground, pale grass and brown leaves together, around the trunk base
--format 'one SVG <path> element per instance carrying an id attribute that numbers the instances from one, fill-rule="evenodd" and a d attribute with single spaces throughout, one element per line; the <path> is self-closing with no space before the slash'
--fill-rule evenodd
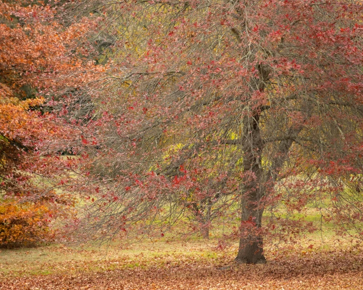
<path id="1" fill-rule="evenodd" d="M 304 237 L 267 247 L 265 265 L 233 263 L 217 239 L 142 241 L 107 248 L 2 249 L 0 289 L 363 289 L 363 247 Z M 225 266 L 230 266 L 225 269 Z M 223 269 L 220 269 L 223 268 Z"/>

